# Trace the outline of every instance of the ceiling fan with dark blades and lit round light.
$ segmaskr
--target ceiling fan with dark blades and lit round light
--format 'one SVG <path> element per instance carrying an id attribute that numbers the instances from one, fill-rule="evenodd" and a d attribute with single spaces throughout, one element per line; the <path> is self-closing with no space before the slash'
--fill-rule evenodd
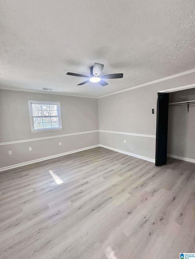
<path id="1" fill-rule="evenodd" d="M 103 79 L 115 79 L 115 78 L 122 78 L 123 74 L 109 74 L 109 75 L 103 75 L 100 76 L 102 70 L 104 68 L 104 65 L 95 63 L 94 66 L 90 67 L 90 76 L 85 76 L 81 74 L 76 73 L 67 73 L 67 75 L 75 76 L 75 77 L 88 77 L 89 79 L 87 81 L 84 81 L 82 83 L 79 83 L 78 85 L 83 85 L 85 83 L 93 82 L 93 83 L 99 83 L 102 86 L 108 85 Z"/>

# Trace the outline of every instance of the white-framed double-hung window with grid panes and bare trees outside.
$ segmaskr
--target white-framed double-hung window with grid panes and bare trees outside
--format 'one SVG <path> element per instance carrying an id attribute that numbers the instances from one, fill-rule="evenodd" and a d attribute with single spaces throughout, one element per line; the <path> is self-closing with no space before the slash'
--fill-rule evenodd
<path id="1" fill-rule="evenodd" d="M 28 101 L 31 131 L 62 129 L 60 102 Z"/>

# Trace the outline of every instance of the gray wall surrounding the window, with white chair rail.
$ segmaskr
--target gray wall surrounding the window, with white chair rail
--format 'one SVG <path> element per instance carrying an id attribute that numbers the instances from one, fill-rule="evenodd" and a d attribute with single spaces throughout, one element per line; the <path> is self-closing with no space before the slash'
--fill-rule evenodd
<path id="1" fill-rule="evenodd" d="M 31 133 L 28 100 L 61 102 L 63 130 Z M 98 100 L 0 90 L 0 142 L 98 130 Z M 59 146 L 62 142 L 62 146 Z M 99 144 L 99 132 L 0 145 L 0 168 Z M 32 151 L 29 151 L 32 147 Z M 12 150 L 12 155 L 8 151 Z"/>

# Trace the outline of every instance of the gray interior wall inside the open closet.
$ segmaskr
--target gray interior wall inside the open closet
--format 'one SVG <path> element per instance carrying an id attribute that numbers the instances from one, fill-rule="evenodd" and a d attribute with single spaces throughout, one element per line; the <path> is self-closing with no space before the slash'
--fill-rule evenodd
<path id="1" fill-rule="evenodd" d="M 195 88 L 169 94 L 169 102 L 195 100 Z M 195 159 L 195 104 L 169 106 L 168 154 Z"/>

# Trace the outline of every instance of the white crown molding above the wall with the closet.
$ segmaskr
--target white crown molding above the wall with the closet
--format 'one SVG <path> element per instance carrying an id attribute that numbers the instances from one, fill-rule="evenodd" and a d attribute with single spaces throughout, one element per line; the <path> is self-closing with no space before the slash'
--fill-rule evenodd
<path id="1" fill-rule="evenodd" d="M 133 89 L 136 89 L 136 88 L 147 86 L 147 85 L 150 85 L 150 84 L 153 84 L 153 83 L 159 83 L 159 82 L 162 82 L 162 81 L 165 81 L 165 80 L 169 80 L 169 79 L 172 79 L 172 78 L 175 78 L 175 77 L 181 77 L 181 76 L 184 76 L 184 75 L 187 75 L 187 74 L 191 74 L 191 73 L 194 73 L 194 72 L 195 72 L 195 68 L 191 69 L 191 70 L 184 71 L 184 72 L 179 73 L 179 74 L 175 74 L 175 75 L 169 76 L 169 77 L 163 77 L 161 79 L 154 80 L 154 81 L 151 81 L 151 82 L 148 82 L 148 83 L 143 83 L 143 84 L 140 84 L 140 85 L 137 85 L 137 86 L 134 86 L 134 87 L 126 88 L 124 90 L 120 90 L 120 91 L 117 91 L 117 92 L 114 92 L 114 93 L 111 93 L 111 94 L 105 94 L 105 95 L 99 96 L 98 99 L 99 98 L 103 98 L 103 97 L 107 97 L 109 95 L 119 94 L 119 93 L 122 93 L 122 92 L 126 92 L 126 91 L 129 91 L 129 90 L 133 90 Z"/>

